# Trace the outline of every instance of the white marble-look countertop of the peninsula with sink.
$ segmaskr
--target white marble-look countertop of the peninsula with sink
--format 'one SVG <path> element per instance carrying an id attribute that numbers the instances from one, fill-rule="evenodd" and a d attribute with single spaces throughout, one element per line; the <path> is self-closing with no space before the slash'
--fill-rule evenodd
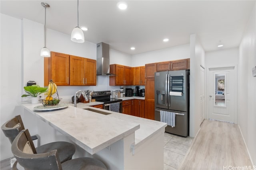
<path id="1" fill-rule="evenodd" d="M 103 115 L 85 110 L 91 108 L 89 106 L 99 103 L 78 103 L 77 107 L 74 107 L 74 104 L 68 104 L 67 108 L 54 111 L 34 111 L 34 107 L 40 104 L 21 105 L 90 154 L 94 154 L 134 132 L 136 148 L 167 126 L 166 123 L 159 121 L 98 108 L 93 109 L 111 114 Z"/>

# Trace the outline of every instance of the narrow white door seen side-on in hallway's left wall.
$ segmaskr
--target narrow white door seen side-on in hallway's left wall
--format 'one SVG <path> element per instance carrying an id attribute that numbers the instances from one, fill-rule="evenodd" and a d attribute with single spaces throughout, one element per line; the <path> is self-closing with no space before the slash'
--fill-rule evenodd
<path id="1" fill-rule="evenodd" d="M 200 115 L 201 115 L 201 119 L 200 122 L 204 121 L 204 113 L 205 113 L 205 95 L 204 95 L 204 68 L 201 66 L 200 67 Z"/>

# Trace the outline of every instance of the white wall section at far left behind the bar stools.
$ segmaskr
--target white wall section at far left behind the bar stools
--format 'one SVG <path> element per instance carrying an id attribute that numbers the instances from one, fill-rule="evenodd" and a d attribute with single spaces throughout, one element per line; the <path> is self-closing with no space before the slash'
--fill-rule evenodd
<path id="1" fill-rule="evenodd" d="M 15 106 L 21 101 L 22 90 L 22 21 L 1 17 L 0 57 L 0 123 L 16 115 Z M 0 160 L 12 156 L 9 140 L 0 132 Z"/>

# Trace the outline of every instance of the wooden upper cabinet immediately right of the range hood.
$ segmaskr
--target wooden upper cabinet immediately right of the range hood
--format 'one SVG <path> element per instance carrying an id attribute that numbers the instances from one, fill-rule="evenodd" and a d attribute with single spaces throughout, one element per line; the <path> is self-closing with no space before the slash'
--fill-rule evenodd
<path id="1" fill-rule="evenodd" d="M 132 85 L 132 67 L 111 64 L 110 73 L 116 74 L 116 76 L 109 77 L 110 86 Z"/>

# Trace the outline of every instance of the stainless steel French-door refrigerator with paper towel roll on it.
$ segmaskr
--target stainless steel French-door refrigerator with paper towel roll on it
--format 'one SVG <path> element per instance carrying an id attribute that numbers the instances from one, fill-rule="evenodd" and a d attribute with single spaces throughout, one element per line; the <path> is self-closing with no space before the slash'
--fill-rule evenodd
<path id="1" fill-rule="evenodd" d="M 165 131 L 180 136 L 189 135 L 189 70 L 155 72 L 155 120 L 160 111 L 175 113 L 175 127 Z"/>

